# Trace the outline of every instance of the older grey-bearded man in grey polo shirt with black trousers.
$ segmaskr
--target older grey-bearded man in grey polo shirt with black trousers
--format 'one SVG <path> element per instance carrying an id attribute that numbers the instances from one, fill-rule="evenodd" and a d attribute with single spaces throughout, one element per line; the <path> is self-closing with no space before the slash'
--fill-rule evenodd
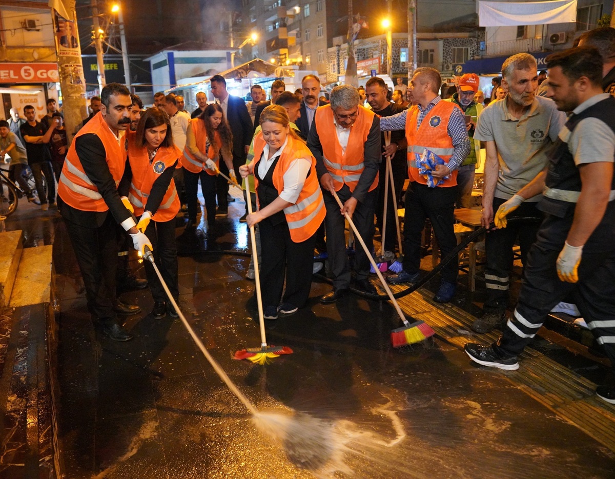
<path id="1" fill-rule="evenodd" d="M 520 53 L 507 58 L 502 74 L 502 84 L 508 94 L 483 110 L 474 133 L 474 139 L 486 145 L 481 218 L 485 228 L 493 222 L 494 211 L 546 166 L 548 147 L 557 139 L 566 121 L 566 115 L 557 110 L 552 100 L 536 96 L 538 68 L 532 55 Z M 518 238 L 525 265 L 542 218 L 542 213 L 536 209 L 540 199 L 541 195 L 529 198 L 511 215 L 535 217 L 535 221 L 510 223 L 509 227 L 486 235 L 487 298 L 483 315 L 472 323 L 472 331 L 485 333 L 506 323 L 512 248 Z"/>

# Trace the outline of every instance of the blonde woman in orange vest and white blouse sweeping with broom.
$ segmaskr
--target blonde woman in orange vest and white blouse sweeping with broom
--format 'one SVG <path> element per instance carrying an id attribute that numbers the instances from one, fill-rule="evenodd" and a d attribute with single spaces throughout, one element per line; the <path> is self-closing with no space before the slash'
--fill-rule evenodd
<path id="1" fill-rule="evenodd" d="M 265 108 L 262 131 L 254 139 L 254 159 L 239 167 L 242 177 L 255 177 L 259 209 L 246 220 L 248 226 L 258 223 L 260 228 L 261 292 L 268 320 L 276 320 L 278 313 L 291 315 L 306 304 L 315 233 L 325 218 L 316 160 L 289 123 L 285 108 Z"/>

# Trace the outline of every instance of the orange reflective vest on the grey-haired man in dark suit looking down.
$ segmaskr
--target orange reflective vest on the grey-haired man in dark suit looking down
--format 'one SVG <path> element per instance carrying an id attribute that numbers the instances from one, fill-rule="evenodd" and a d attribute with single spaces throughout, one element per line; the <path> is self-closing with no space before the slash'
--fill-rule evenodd
<path id="1" fill-rule="evenodd" d="M 339 191 L 344 183 L 351 191 L 357 187 L 359 178 L 365 169 L 363 157 L 365 156 L 365 142 L 370 133 L 374 113 L 367 108 L 359 106 L 359 116 L 351 126 L 346 151 L 342 152 L 339 145 L 336 126 L 333 123 L 333 108 L 331 105 L 316 108 L 315 126 L 322 145 L 322 159 L 331 177 L 335 191 Z M 371 183 L 370 191 L 378 187 L 378 176 Z"/>

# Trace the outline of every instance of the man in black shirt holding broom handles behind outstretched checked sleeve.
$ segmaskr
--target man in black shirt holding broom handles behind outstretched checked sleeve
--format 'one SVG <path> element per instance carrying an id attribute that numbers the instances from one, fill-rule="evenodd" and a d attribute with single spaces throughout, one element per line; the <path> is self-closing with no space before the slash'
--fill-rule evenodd
<path id="1" fill-rule="evenodd" d="M 365 84 L 365 96 L 367 102 L 370 104 L 371 110 L 378 116 L 392 116 L 400 111 L 404 111 L 405 108 L 402 105 L 391 103 L 386 99 L 387 87 L 382 78 L 377 76 L 368 79 Z M 395 130 L 391 132 L 391 144 L 387 147 L 384 142 L 384 133 L 381 133 L 381 141 L 383 144 L 383 157 L 380 163 L 379 172 L 379 185 L 378 190 L 378 202 L 376 203 L 376 224 L 378 224 L 378 230 L 380 234 L 383 233 L 383 219 L 384 219 L 384 184 L 386 175 L 386 157 L 391 156 L 391 167 L 393 170 L 393 179 L 395 186 L 395 194 L 397 195 L 397 203 L 400 203 L 400 193 L 403 188 L 403 181 L 407 176 L 406 166 L 406 148 L 408 142 L 403 130 Z M 386 238 L 382 238 L 381 241 L 384 244 L 384 254 L 387 252 L 395 251 L 395 240 L 397 236 L 395 234 L 395 215 L 393 206 L 393 195 L 391 183 L 389 183 L 389 199 L 387 205 L 386 215 Z M 391 255 L 392 256 L 392 255 Z"/>

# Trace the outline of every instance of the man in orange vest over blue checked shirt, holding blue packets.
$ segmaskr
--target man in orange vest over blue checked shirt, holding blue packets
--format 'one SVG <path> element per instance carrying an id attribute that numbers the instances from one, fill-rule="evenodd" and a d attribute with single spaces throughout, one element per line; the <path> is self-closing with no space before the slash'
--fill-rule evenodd
<path id="1" fill-rule="evenodd" d="M 442 257 L 457 246 L 453 223 L 457 198 L 457 169 L 470 153 L 466 119 L 461 109 L 443 102 L 438 92 L 442 77 L 435 68 L 417 68 L 410 82 L 418 108 L 402 111 L 381 119 L 381 128 L 405 129 L 408 142 L 408 177 L 410 187 L 405 196 L 403 223 L 403 270 L 387 280 L 392 284 L 416 283 L 421 272 L 421 231 L 429 218 L 434 227 Z M 410 88 L 408 88 L 410 90 Z M 443 160 L 427 175 L 419 173 L 415 153 L 430 150 Z M 431 174 L 432 182 L 427 178 Z M 453 299 L 459 264 L 452 260 L 442 268 L 442 282 L 434 301 L 446 303 Z"/>

